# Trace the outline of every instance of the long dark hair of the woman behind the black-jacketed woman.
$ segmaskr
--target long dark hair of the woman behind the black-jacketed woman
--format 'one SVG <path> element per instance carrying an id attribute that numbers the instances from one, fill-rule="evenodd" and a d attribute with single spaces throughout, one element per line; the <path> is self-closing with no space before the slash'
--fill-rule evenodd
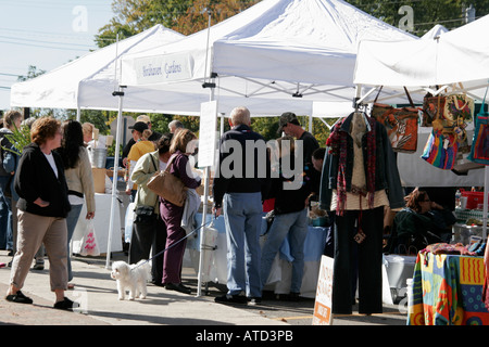
<path id="1" fill-rule="evenodd" d="M 64 169 L 76 167 L 79 160 L 79 151 L 84 145 L 84 131 L 82 124 L 76 120 L 66 120 L 61 125 L 63 131 L 63 141 L 61 147 L 58 149 L 63 159 Z"/>

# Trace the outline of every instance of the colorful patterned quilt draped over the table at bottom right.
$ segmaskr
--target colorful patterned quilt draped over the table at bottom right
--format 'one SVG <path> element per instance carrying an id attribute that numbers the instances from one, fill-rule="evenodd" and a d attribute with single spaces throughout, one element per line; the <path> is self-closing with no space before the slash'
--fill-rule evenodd
<path id="1" fill-rule="evenodd" d="M 489 325 L 484 257 L 418 253 L 408 325 Z"/>

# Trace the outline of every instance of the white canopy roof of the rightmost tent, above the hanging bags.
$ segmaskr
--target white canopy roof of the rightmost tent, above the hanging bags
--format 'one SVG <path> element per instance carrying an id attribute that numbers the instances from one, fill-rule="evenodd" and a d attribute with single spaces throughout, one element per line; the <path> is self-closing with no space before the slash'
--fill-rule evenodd
<path id="1" fill-rule="evenodd" d="M 390 88 L 462 83 L 473 98 L 481 100 L 489 81 L 488 28 L 486 15 L 438 39 L 362 41 L 354 82 Z"/>

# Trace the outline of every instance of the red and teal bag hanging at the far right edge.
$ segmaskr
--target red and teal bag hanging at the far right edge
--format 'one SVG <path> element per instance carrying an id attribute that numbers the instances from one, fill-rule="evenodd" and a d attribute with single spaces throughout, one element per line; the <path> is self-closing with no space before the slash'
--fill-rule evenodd
<path id="1" fill-rule="evenodd" d="M 480 111 L 475 117 L 474 138 L 467 158 L 474 163 L 489 165 L 489 113 L 484 111 L 486 95 L 487 89 Z"/>

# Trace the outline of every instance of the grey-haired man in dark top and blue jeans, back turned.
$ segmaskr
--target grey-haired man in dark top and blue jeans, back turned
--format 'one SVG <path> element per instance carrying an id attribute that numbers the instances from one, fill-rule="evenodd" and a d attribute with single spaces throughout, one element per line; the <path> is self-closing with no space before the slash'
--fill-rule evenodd
<path id="1" fill-rule="evenodd" d="M 220 167 L 213 182 L 213 211 L 216 216 L 224 211 L 226 226 L 228 292 L 215 301 L 258 304 L 262 297 L 262 191 L 267 189 L 269 159 L 265 140 L 250 128 L 248 108 L 233 110 L 229 125 L 231 130 L 221 138 Z"/>

